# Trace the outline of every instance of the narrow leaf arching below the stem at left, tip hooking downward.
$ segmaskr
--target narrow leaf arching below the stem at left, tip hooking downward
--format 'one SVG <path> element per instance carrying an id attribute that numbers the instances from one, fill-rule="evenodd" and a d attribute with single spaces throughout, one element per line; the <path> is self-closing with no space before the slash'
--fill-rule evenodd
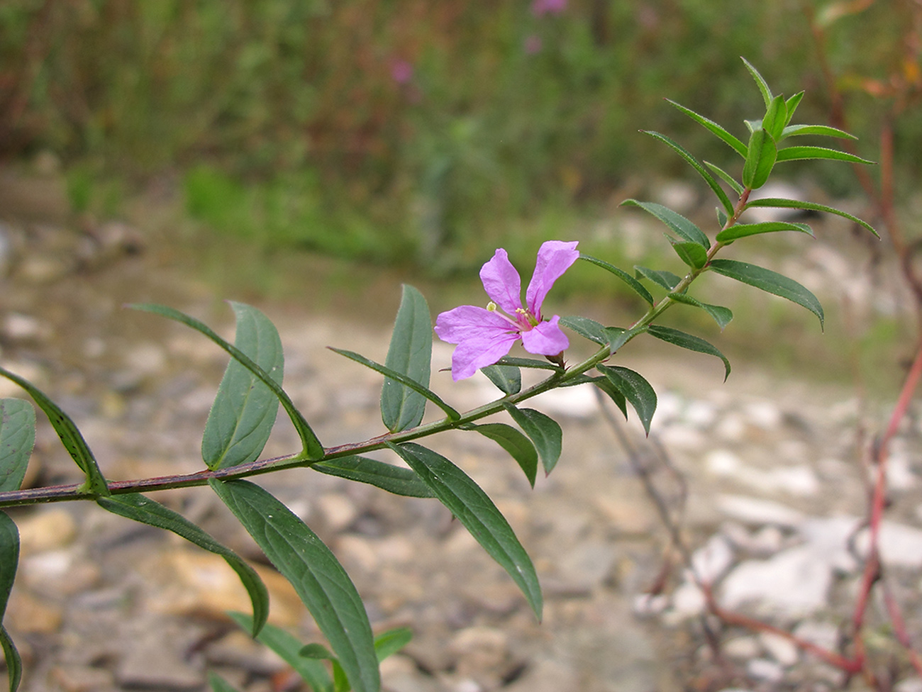
<path id="1" fill-rule="evenodd" d="M 269 616 L 269 593 L 266 591 L 266 585 L 246 560 L 233 552 L 231 548 L 219 544 L 218 541 L 193 522 L 187 520 L 182 514 L 178 514 L 140 493 L 112 495 L 108 498 L 98 498 L 96 501 L 103 510 L 111 511 L 112 514 L 117 514 L 148 526 L 155 526 L 158 529 L 171 531 L 190 543 L 205 548 L 209 553 L 223 557 L 224 561 L 231 566 L 231 569 L 237 572 L 237 576 L 240 577 L 243 588 L 246 589 L 250 596 L 250 602 L 253 604 L 254 628 L 251 630 L 251 634 L 255 637 L 266 624 L 266 618 Z"/>

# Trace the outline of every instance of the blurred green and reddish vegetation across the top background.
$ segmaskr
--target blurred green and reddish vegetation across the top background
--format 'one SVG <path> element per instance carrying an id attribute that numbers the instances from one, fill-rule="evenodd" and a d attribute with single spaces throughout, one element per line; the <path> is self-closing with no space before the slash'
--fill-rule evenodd
<path id="1" fill-rule="evenodd" d="M 761 100 L 740 55 L 776 90 L 808 89 L 798 117 L 825 122 L 807 17 L 837 5 L 6 0 L 0 147 L 63 158 L 77 209 L 170 171 L 219 233 L 440 275 L 501 242 L 569 237 L 554 219 L 604 210 L 637 179 L 686 175 L 640 128 L 724 164 L 662 99 L 742 131 Z M 883 78 L 905 20 L 885 2 L 838 19 L 831 64 Z M 880 108 L 859 97 L 850 112 L 871 158 Z M 899 127 L 922 134 L 922 119 Z M 901 180 L 922 165 L 915 150 L 898 164 Z M 822 170 L 853 189 L 846 167 Z"/>

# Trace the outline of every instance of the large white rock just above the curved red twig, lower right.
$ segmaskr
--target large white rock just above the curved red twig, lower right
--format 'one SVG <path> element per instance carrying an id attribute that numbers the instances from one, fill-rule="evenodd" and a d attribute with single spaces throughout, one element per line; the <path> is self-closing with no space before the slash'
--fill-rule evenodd
<path id="1" fill-rule="evenodd" d="M 730 609 L 755 604 L 766 615 L 809 616 L 827 604 L 832 579 L 832 569 L 809 545 L 797 545 L 740 563 L 723 581 L 721 601 Z"/>

